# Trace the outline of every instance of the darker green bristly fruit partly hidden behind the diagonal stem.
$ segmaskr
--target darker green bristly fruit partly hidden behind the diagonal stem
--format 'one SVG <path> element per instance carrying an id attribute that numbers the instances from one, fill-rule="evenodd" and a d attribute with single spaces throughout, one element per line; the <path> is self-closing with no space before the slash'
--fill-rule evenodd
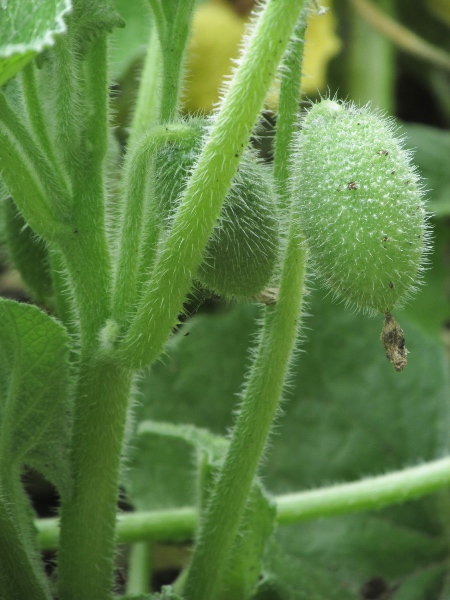
<path id="1" fill-rule="evenodd" d="M 170 226 L 207 132 L 193 119 L 192 137 L 167 143 L 157 154 L 155 210 Z M 276 194 L 269 169 L 245 151 L 196 278 L 220 296 L 250 298 L 270 283 L 278 260 Z"/>

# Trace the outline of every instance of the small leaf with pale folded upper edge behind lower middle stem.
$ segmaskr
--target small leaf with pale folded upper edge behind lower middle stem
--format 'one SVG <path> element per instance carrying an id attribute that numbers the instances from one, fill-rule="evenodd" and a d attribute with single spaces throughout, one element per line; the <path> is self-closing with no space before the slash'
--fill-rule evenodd
<path id="1" fill-rule="evenodd" d="M 142 422 L 133 442 L 127 485 L 134 506 L 140 510 L 204 506 L 227 446 L 227 440 L 192 425 Z M 274 523 L 275 505 L 256 482 L 228 566 L 226 586 L 217 600 L 249 597 Z"/>

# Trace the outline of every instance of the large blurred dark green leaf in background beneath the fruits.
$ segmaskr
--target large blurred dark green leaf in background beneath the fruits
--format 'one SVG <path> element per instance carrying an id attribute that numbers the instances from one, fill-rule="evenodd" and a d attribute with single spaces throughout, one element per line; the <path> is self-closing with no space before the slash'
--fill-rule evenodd
<path id="1" fill-rule="evenodd" d="M 308 300 L 308 339 L 262 469 L 270 491 L 357 480 L 447 453 L 450 389 L 442 344 L 402 319 L 410 354 L 398 374 L 379 341 L 381 319 L 354 315 L 318 293 Z M 225 433 L 257 315 L 241 306 L 192 319 L 190 335 L 174 336 L 165 364 L 143 380 L 142 413 Z M 355 594 L 379 575 L 400 593 L 420 570 L 445 559 L 441 496 L 281 529 L 279 539 L 284 552 L 325 571 L 339 589 L 345 584 Z M 439 585 L 441 575 L 433 573 Z M 419 598 L 429 600 L 425 591 Z"/>

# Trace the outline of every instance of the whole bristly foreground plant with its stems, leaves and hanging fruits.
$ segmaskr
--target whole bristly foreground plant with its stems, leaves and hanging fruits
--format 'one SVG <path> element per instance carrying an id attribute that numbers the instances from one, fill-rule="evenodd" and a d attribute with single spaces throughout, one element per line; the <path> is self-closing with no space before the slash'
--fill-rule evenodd
<path id="1" fill-rule="evenodd" d="M 0 38 L 5 240 L 36 301 L 0 302 L 4 600 L 111 600 L 134 384 L 164 352 L 194 286 L 266 305 L 229 439 L 196 438 L 214 460 L 205 459 L 199 478 L 192 559 L 161 598 L 258 597 L 274 522 L 258 467 L 300 332 L 308 255 L 308 268 L 334 295 L 384 315 L 395 368 L 406 359 L 391 311 L 414 290 L 428 250 L 420 181 L 391 124 L 370 108 L 326 99 L 299 121 L 308 2 L 268 0 L 258 8 L 208 119 L 180 113 L 194 1 L 149 4 L 151 39 L 118 177 L 108 35 L 123 23 L 113 3 L 18 0 L 0 8 L 9 36 Z M 268 166 L 249 139 L 277 73 Z M 25 466 L 60 496 L 51 582 L 21 485 Z M 367 480 L 356 491 L 338 486 L 311 502 L 320 515 L 330 498 L 333 506 L 358 493 L 361 506 L 367 498 L 398 501 L 415 476 L 400 473 L 385 486 Z M 408 497 L 443 477 L 417 481 Z M 307 511 L 302 501 L 284 508 L 292 522 Z M 272 521 L 257 537 L 261 506 Z M 247 538 L 257 543 L 246 546 Z"/>

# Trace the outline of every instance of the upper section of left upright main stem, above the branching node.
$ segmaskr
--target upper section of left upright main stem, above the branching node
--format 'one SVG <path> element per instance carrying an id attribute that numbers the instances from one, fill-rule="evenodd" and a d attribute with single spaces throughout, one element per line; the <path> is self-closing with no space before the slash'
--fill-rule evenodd
<path id="1" fill-rule="evenodd" d="M 86 58 L 83 141 L 78 171 L 73 172 L 74 197 L 70 233 L 59 244 L 77 303 L 83 351 L 95 347 L 109 317 L 112 264 L 105 227 L 104 160 L 108 137 L 106 38 L 92 43 Z"/>

